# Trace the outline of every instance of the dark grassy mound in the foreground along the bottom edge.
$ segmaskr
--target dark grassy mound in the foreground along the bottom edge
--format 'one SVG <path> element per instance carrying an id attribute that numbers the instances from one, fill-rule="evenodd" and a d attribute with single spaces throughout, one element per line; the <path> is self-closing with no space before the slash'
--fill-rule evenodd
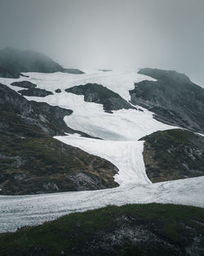
<path id="1" fill-rule="evenodd" d="M 174 204 L 108 206 L 0 236 L 1 256 L 204 254 L 204 209 Z"/>

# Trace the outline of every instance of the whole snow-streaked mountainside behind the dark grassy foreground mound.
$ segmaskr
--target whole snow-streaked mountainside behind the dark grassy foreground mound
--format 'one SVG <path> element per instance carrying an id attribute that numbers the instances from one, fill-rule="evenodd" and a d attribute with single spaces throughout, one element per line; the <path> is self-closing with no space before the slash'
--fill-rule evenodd
<path id="1" fill-rule="evenodd" d="M 24 214 L 2 231 L 113 203 L 204 207 L 204 90 L 184 74 L 17 72 L 0 78 L 1 218 Z M 77 192 L 27 195 L 62 191 Z"/>

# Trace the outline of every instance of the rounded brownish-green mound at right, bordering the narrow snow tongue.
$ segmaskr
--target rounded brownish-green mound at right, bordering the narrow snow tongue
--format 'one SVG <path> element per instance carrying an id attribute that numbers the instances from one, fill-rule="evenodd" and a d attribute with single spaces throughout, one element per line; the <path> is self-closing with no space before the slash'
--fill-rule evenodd
<path id="1" fill-rule="evenodd" d="M 144 140 L 144 164 L 152 182 L 204 175 L 204 137 L 187 130 L 157 131 Z"/>

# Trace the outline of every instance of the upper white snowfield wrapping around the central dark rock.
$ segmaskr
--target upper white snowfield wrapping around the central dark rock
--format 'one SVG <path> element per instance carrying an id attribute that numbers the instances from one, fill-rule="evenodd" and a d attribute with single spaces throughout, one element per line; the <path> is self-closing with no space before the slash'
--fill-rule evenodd
<path id="1" fill-rule="evenodd" d="M 26 73 L 27 74 L 27 73 Z M 153 113 L 144 110 L 118 110 L 113 115 L 105 113 L 103 106 L 91 102 L 85 102 L 83 96 L 64 92 L 64 89 L 86 83 L 100 83 L 105 87 L 118 92 L 126 100 L 130 100 L 129 90 L 134 88 L 136 81 L 151 79 L 142 74 L 116 73 L 95 71 L 94 74 L 39 74 L 28 73 L 26 80 L 37 84 L 38 88 L 51 91 L 54 95 L 47 97 L 26 97 L 28 100 L 44 101 L 51 106 L 60 106 L 73 110 L 73 115 L 64 118 L 65 123 L 75 130 L 86 132 L 93 137 L 101 137 L 105 140 L 131 141 L 138 140 L 157 130 L 173 128 L 153 119 Z M 10 88 L 19 91 L 20 88 L 11 86 L 14 81 L 20 79 L 0 79 L 0 82 L 7 84 Z M 152 80 L 152 79 L 151 79 Z M 62 92 L 56 93 L 55 89 L 60 88 Z M 143 111 L 141 111 L 143 110 Z"/>

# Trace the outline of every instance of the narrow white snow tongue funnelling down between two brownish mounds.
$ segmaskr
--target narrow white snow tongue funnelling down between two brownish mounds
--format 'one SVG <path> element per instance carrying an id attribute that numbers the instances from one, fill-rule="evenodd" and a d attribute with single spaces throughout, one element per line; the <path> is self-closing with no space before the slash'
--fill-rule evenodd
<path id="1" fill-rule="evenodd" d="M 102 141 L 78 135 L 55 137 L 72 146 L 78 146 L 91 155 L 108 159 L 119 169 L 114 179 L 121 186 L 131 183 L 149 184 L 143 160 L 143 141 Z"/>

